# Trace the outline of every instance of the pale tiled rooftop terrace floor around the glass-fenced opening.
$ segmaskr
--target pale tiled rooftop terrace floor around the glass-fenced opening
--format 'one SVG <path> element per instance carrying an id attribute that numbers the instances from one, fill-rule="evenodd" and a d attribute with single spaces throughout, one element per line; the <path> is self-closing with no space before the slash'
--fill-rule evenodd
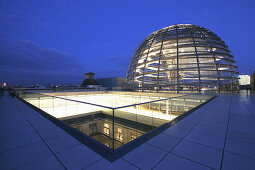
<path id="1" fill-rule="evenodd" d="M 0 169 L 255 169 L 255 96 L 220 95 L 111 163 L 0 93 Z"/>

